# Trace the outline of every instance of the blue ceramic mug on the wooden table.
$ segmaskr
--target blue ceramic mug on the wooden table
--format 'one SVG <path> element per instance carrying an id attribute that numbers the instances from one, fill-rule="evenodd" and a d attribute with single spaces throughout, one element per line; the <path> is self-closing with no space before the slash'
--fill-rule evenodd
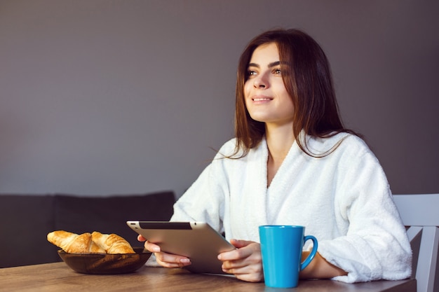
<path id="1" fill-rule="evenodd" d="M 317 239 L 304 236 L 304 226 L 262 225 L 259 226 L 262 267 L 265 285 L 276 288 L 296 287 L 299 272 L 303 270 L 317 253 Z M 306 240 L 313 241 L 313 249 L 302 263 L 302 248 Z"/>

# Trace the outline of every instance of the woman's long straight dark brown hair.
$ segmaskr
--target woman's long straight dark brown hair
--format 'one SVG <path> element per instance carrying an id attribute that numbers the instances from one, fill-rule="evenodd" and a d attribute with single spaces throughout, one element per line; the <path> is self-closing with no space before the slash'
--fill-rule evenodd
<path id="1" fill-rule="evenodd" d="M 253 120 L 245 106 L 244 83 L 249 78 L 248 64 L 253 52 L 257 47 L 267 43 L 276 43 L 281 64 L 290 64 L 282 68 L 282 78 L 294 104 L 292 131 L 302 151 L 313 157 L 323 157 L 334 151 L 342 142 L 339 141 L 325 153 L 312 153 L 306 139 L 299 137 L 302 130 L 309 136 L 320 138 L 332 137 L 340 132 L 358 135 L 344 128 L 339 117 L 330 64 L 322 48 L 311 36 L 299 29 L 276 29 L 252 39 L 239 59 L 234 155 L 242 150 L 241 157 L 245 156 L 251 148 L 259 144 L 265 134 L 265 123 Z"/>

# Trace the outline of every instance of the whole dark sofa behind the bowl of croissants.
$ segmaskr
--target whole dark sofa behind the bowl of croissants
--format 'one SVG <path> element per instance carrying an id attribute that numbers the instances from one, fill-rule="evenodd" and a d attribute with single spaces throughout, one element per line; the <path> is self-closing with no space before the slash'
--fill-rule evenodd
<path id="1" fill-rule="evenodd" d="M 144 195 L 89 197 L 76 195 L 0 195 L 0 267 L 60 261 L 47 241 L 53 230 L 116 233 L 142 246 L 126 221 L 168 221 L 172 191 Z"/>

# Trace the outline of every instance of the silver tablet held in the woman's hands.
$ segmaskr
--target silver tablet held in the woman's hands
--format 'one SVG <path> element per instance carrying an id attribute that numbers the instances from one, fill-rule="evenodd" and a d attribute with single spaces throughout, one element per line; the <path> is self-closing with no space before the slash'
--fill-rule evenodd
<path id="1" fill-rule="evenodd" d="M 128 226 L 161 251 L 186 256 L 191 272 L 224 274 L 219 253 L 235 247 L 204 222 L 127 221 Z"/>

